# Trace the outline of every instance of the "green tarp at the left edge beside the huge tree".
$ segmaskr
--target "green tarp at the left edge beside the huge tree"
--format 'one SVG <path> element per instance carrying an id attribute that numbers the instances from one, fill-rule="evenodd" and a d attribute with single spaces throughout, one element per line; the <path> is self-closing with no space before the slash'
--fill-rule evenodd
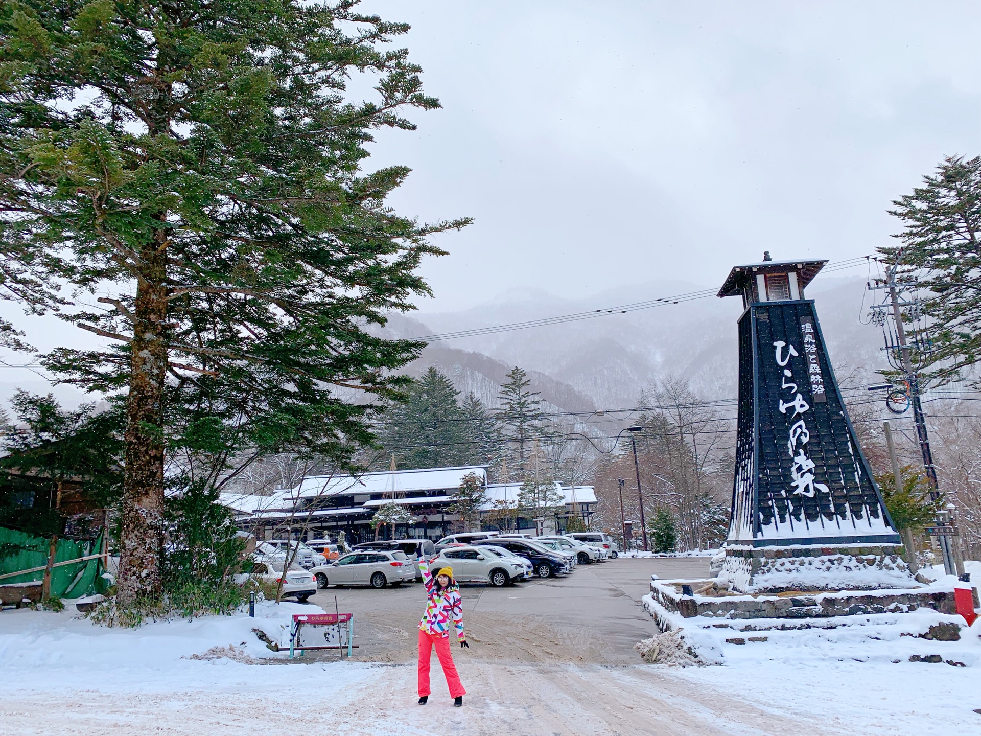
<path id="1" fill-rule="evenodd" d="M 102 534 L 105 532 L 103 531 Z M 94 541 L 72 542 L 58 540 L 55 549 L 55 562 L 77 559 L 99 552 L 102 534 Z M 0 527 L 0 575 L 31 567 L 41 567 L 48 563 L 51 540 L 35 537 L 13 529 Z M 95 593 L 96 580 L 102 573 L 102 559 L 89 559 L 74 562 L 51 570 L 52 598 L 80 598 Z M 9 578 L 0 578 L 0 585 L 29 583 L 44 578 L 44 570 L 28 572 Z"/>

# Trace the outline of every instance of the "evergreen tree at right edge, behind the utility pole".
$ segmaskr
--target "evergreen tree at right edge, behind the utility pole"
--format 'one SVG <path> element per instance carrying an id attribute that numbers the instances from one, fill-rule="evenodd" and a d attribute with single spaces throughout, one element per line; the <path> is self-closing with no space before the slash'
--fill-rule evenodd
<path id="1" fill-rule="evenodd" d="M 932 349 L 916 357 L 932 367 L 927 375 L 954 381 L 981 361 L 981 157 L 946 158 L 923 186 L 893 204 L 889 214 L 904 227 L 895 236 L 901 244 L 879 252 L 901 278 L 929 293 L 922 312 Z M 913 316 L 904 312 L 910 323 Z"/>

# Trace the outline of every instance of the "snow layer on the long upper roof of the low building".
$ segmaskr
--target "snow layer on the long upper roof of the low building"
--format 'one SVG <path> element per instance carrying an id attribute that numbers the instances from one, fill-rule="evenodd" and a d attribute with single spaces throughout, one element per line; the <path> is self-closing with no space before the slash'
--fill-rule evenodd
<path id="1" fill-rule="evenodd" d="M 414 491 L 448 491 L 457 489 L 467 473 L 476 473 L 487 481 L 487 469 L 480 465 L 419 470 L 386 470 L 361 475 L 321 475 L 305 478 L 292 489 L 297 496 L 337 496 L 339 494 L 390 494 Z"/>

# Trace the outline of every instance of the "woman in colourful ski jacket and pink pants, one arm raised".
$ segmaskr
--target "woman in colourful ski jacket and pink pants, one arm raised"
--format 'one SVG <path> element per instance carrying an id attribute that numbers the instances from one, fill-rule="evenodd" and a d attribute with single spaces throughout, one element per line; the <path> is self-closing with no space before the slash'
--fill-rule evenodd
<path id="1" fill-rule="evenodd" d="M 463 634 L 463 605 L 460 599 L 460 587 L 453 580 L 453 568 L 443 567 L 436 574 L 436 580 L 429 570 L 429 561 L 419 552 L 419 569 L 423 573 L 423 585 L 426 586 L 428 601 L 426 612 L 419 622 L 419 705 L 425 706 L 429 700 L 429 669 L 433 647 L 439 657 L 442 673 L 446 676 L 449 695 L 453 705 L 460 708 L 463 696 L 467 691 L 460 683 L 456 673 L 453 656 L 449 652 L 450 621 L 456 628 L 456 638 L 461 648 L 470 648 Z"/>

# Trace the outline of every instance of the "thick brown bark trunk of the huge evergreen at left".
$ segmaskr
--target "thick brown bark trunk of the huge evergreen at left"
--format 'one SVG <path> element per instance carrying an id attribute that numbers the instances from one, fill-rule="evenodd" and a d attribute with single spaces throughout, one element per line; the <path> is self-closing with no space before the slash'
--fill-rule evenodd
<path id="1" fill-rule="evenodd" d="M 164 220 L 165 216 L 161 216 Z M 167 371 L 167 232 L 140 252 L 142 279 L 136 287 L 129 399 L 127 402 L 126 475 L 123 531 L 120 537 L 118 600 L 157 600 L 161 594 L 163 550 L 164 432 L 163 392 Z"/>

